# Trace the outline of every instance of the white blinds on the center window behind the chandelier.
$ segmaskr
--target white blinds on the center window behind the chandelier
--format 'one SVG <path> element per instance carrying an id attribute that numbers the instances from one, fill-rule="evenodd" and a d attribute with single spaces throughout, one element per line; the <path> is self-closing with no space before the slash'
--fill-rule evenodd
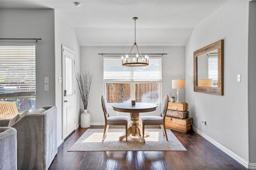
<path id="1" fill-rule="evenodd" d="M 162 82 L 162 57 L 151 57 L 149 66 L 122 66 L 120 57 L 104 57 L 104 82 L 160 83 Z"/>

